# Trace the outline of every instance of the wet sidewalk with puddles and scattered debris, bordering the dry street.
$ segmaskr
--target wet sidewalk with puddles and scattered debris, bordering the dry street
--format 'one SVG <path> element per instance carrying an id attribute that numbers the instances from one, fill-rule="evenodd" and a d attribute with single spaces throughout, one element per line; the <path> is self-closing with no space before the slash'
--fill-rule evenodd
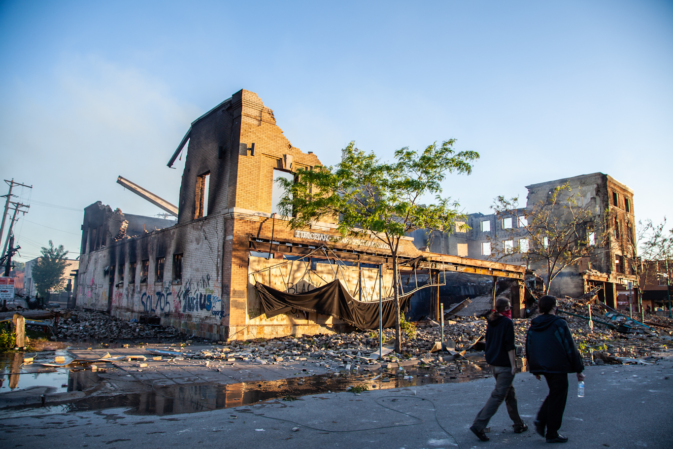
<path id="1" fill-rule="evenodd" d="M 0 418 L 34 413 L 74 413 L 123 407 L 136 415 L 172 415 L 240 407 L 281 399 L 291 402 L 308 394 L 359 390 L 386 390 L 427 384 L 466 382 L 489 377 L 483 357 L 454 361 L 442 366 L 411 365 L 360 370 L 334 368 L 318 361 L 293 361 L 275 365 L 254 362 L 201 361 L 183 357 L 161 357 L 145 347 L 71 349 L 38 353 L 33 364 L 23 365 L 23 354 L 0 357 Z M 56 355 L 75 359 L 97 359 L 144 355 L 146 361 L 126 359 L 96 362 L 98 370 L 86 365 L 48 368 Z M 32 356 L 34 354 L 25 354 Z M 69 394 L 65 394 L 69 393 Z M 44 403 L 42 403 L 44 395 Z"/>

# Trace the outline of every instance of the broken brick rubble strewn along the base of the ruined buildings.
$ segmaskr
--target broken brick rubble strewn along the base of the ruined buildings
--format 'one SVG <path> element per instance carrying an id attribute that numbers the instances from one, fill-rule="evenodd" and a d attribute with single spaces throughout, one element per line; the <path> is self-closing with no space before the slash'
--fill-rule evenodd
<path id="1" fill-rule="evenodd" d="M 671 331 L 673 320 L 656 315 L 647 315 L 645 322 L 650 330 L 641 332 L 638 329 L 629 333 L 620 332 L 614 326 L 600 324 L 608 322 L 603 316 L 604 310 L 596 304 L 583 304 L 577 301 L 560 300 L 559 306 L 572 314 L 561 314 L 567 320 L 575 343 L 583 354 L 586 364 L 602 364 L 606 361 L 615 362 L 614 357 L 644 359 L 652 352 L 666 349 L 672 344 Z M 580 316 L 588 315 L 592 308 L 594 327 Z M 183 357 L 194 359 L 219 359 L 225 361 L 258 361 L 262 364 L 273 364 L 281 361 L 304 361 L 315 359 L 332 366 L 351 365 L 351 369 L 359 365 L 374 364 L 378 355 L 378 331 L 353 331 L 351 333 L 332 333 L 319 335 L 299 335 L 277 339 L 255 339 L 249 341 L 211 342 L 211 349 L 192 351 L 190 343 L 208 343 L 203 339 L 190 338 L 180 334 L 176 329 L 157 324 L 141 324 L 128 322 L 109 316 L 102 312 L 73 310 L 63 313 L 57 330 L 57 339 L 70 343 L 164 343 L 167 349 L 180 352 Z M 485 335 L 486 321 L 477 316 L 451 316 L 444 326 L 444 341 L 458 351 L 479 351 L 480 346 L 474 343 Z M 526 331 L 530 323 L 528 319 L 516 319 L 515 331 L 517 343 L 524 345 Z M 432 320 L 415 323 L 415 335 L 409 332 L 402 343 L 402 354 L 390 352 L 384 355 L 384 361 L 404 359 L 427 359 L 446 356 L 446 351 L 439 349 L 435 342 L 441 340 L 441 326 Z M 611 329 L 611 327 L 613 329 Z M 392 347 L 393 331 L 384 331 L 384 345 Z M 433 351 L 433 347 L 435 351 Z M 445 348 L 446 349 L 446 345 Z M 483 348 L 482 348 L 483 349 Z M 432 351 L 432 352 L 431 352 Z M 377 353 L 376 355 L 374 353 Z M 452 352 L 452 354 L 455 354 Z M 371 356 L 372 359 L 365 357 Z M 460 354 L 455 355 L 460 358 Z M 622 362 L 626 360 L 621 360 Z"/>

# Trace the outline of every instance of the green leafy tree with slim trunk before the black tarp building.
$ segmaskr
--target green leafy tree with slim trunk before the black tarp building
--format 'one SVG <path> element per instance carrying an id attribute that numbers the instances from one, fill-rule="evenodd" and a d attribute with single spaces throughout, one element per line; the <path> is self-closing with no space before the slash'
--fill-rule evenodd
<path id="1" fill-rule="evenodd" d="M 292 229 L 307 228 L 314 221 L 333 217 L 343 237 L 374 238 L 392 256 L 396 306 L 395 348 L 401 351 L 398 251 L 402 237 L 419 229 L 449 231 L 462 217 L 458 203 L 442 198 L 441 182 L 447 173 L 472 172 L 475 151 L 453 149 L 454 139 L 433 143 L 418 153 L 408 147 L 395 152 L 396 162 L 380 162 L 351 142 L 336 166 L 300 169 L 294 180 L 277 178 L 284 189 L 279 202 L 283 215 L 292 217 Z M 435 195 L 436 204 L 420 204 Z"/>

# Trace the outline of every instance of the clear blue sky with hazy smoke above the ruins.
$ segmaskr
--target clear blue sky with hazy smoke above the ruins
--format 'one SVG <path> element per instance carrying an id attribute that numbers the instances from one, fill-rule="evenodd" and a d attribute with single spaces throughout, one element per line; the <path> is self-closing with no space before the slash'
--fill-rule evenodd
<path id="1" fill-rule="evenodd" d="M 670 1 L 2 1 L 0 174 L 34 186 L 20 260 L 49 239 L 74 257 L 83 207 L 161 212 L 118 175 L 177 203 L 168 158 L 245 88 L 324 164 L 351 140 L 388 159 L 458 139 L 481 154 L 445 183 L 467 212 L 604 172 L 660 221 L 672 81 Z"/>

